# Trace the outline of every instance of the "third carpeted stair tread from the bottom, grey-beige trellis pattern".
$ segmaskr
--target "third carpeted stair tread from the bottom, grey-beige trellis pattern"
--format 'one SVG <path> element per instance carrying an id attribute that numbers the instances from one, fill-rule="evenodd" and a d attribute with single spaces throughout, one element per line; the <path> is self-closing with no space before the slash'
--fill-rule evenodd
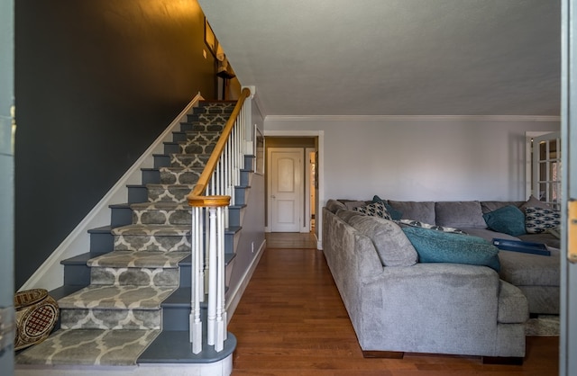
<path id="1" fill-rule="evenodd" d="M 176 269 L 190 252 L 114 251 L 88 260 L 90 267 Z"/>

